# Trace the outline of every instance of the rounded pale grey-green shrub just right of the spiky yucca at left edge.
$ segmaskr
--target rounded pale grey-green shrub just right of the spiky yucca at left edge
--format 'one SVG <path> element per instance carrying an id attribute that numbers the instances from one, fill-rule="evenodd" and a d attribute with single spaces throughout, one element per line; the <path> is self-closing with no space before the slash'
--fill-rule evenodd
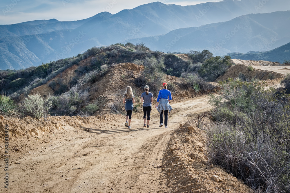
<path id="1" fill-rule="evenodd" d="M 41 95 L 28 95 L 28 98 L 25 98 L 23 103 L 20 104 L 20 112 L 24 115 L 29 115 L 40 119 L 46 117 L 47 112 L 52 107 L 51 101 L 48 99 L 44 100 Z"/>

